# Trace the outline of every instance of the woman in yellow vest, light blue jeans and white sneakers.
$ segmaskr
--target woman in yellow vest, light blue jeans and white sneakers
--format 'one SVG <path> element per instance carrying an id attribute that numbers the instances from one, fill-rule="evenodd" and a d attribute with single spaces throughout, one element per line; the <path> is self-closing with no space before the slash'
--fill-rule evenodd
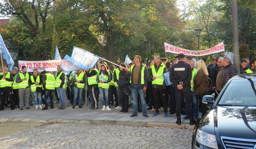
<path id="1" fill-rule="evenodd" d="M 102 110 L 111 110 L 109 108 L 109 82 L 111 81 L 110 73 L 106 65 L 101 65 L 101 71 L 97 75 L 98 89 L 100 90 L 102 100 Z"/>

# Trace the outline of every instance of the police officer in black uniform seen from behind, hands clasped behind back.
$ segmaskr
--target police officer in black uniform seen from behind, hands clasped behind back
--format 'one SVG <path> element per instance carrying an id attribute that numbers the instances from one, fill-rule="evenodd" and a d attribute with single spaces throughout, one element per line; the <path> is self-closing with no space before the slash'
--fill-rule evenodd
<path id="1" fill-rule="evenodd" d="M 191 77 L 192 71 L 189 64 L 185 63 L 185 55 L 180 53 L 177 56 L 179 62 L 171 68 L 171 81 L 175 85 L 176 99 L 176 116 L 177 125 L 181 125 L 180 114 L 182 110 L 183 99 L 185 98 L 186 108 L 189 115 L 189 125 L 195 125 L 196 121 L 193 118 L 192 94 L 191 94 Z"/>

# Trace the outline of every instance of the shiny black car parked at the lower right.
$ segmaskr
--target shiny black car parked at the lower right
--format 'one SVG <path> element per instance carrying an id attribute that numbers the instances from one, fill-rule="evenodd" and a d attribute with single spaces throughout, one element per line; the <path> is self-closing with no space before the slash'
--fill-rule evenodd
<path id="1" fill-rule="evenodd" d="M 192 148 L 256 149 L 256 73 L 233 77 L 216 101 L 203 102 L 212 109 L 195 125 Z"/>

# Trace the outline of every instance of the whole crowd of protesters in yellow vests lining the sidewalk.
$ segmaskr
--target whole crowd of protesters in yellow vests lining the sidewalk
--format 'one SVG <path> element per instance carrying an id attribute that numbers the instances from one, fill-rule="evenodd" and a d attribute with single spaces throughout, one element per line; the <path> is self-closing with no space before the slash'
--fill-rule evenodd
<path id="1" fill-rule="evenodd" d="M 240 73 L 255 73 L 256 60 L 242 59 Z M 163 74 L 170 74 L 171 85 L 164 81 Z M 237 75 L 237 69 L 229 56 L 193 60 L 182 53 L 168 61 L 155 56 L 152 60 L 142 63 L 141 56 L 135 55 L 133 63 L 119 63 L 119 67 L 97 63 L 95 68 L 64 73 L 60 66 L 56 72 L 27 72 L 14 68 L 11 72 L 5 66 L 0 69 L 1 108 L 10 104 L 11 110 L 53 109 L 53 95 L 63 110 L 68 102 L 72 108 L 82 108 L 85 99 L 90 102 L 90 109 L 112 110 L 121 109 L 127 113 L 133 106 L 130 117 L 142 112 L 148 117 L 148 110 L 153 117 L 176 114 L 177 125 L 181 124 L 180 115 L 194 125 L 200 116 L 207 113 L 208 107 L 202 102 L 203 96 L 218 96 L 223 86 Z M 88 87 L 86 87 L 88 86 Z M 88 94 L 85 94 L 88 93 Z M 32 96 L 31 96 L 32 95 Z M 101 102 L 99 102 L 101 101 Z M 168 111 L 169 110 L 169 111 Z M 199 115 L 201 111 L 202 115 Z"/>

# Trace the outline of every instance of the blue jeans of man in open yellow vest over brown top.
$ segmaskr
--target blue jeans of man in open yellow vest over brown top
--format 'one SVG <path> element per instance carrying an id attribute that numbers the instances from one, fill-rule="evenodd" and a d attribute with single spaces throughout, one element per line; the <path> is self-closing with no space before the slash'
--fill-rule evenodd
<path id="1" fill-rule="evenodd" d="M 144 90 L 138 89 L 137 85 L 131 85 L 131 94 L 133 95 L 133 114 L 137 114 L 138 112 L 138 94 L 139 94 L 139 98 L 141 98 L 142 112 L 143 114 L 147 114 Z"/>

